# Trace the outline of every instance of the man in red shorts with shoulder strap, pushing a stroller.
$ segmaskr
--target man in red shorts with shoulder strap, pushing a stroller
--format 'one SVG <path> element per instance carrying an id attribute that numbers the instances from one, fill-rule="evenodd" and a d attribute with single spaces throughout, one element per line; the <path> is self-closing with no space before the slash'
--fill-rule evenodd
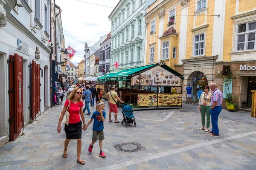
<path id="1" fill-rule="evenodd" d="M 113 120 L 111 119 L 111 113 L 115 113 L 115 123 L 120 123 L 119 121 L 117 121 L 117 113 L 118 113 L 118 108 L 117 108 L 117 100 L 121 103 L 125 103 L 123 102 L 121 99 L 119 99 L 117 93 L 115 92 L 116 88 L 112 87 L 111 91 L 108 92 L 105 96 L 108 99 L 109 102 L 109 122 L 113 122 Z"/>

